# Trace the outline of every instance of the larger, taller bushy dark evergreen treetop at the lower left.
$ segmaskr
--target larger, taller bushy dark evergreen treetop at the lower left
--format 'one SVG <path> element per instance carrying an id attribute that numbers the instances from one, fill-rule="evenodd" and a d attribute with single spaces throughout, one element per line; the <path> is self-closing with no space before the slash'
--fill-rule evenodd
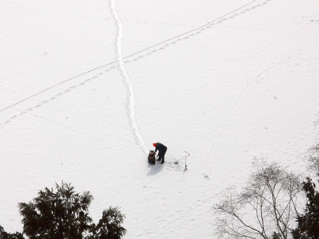
<path id="1" fill-rule="evenodd" d="M 18 204 L 23 233 L 30 239 L 82 239 L 90 229 L 90 192 L 76 193 L 73 186 L 63 182 L 61 186 L 56 184 L 56 190 L 45 188 L 32 202 Z"/>

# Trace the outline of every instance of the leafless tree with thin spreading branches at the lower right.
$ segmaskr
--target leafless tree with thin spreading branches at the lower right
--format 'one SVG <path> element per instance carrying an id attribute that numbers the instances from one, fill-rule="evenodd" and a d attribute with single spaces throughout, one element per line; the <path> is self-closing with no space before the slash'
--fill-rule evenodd
<path id="1" fill-rule="evenodd" d="M 263 157 L 255 158 L 253 169 L 241 192 L 230 187 L 213 206 L 216 233 L 219 238 L 292 238 L 302 191 L 301 175 L 278 163 L 269 164 Z"/>

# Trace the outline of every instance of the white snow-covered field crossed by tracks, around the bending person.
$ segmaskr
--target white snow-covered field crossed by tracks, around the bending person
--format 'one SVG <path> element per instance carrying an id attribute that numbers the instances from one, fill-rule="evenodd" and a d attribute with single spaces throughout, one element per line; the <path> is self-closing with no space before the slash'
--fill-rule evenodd
<path id="1" fill-rule="evenodd" d="M 124 238 L 216 238 L 254 156 L 304 171 L 318 0 L 0 3 L 0 224 L 55 182 L 120 206 Z M 153 142 L 168 148 L 150 166 Z M 185 168 L 185 151 L 190 153 Z M 177 164 L 175 164 L 175 163 Z"/>

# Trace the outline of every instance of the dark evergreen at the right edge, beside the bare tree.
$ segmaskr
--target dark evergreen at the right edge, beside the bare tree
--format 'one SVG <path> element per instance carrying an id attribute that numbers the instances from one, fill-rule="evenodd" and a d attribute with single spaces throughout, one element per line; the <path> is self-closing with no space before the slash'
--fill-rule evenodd
<path id="1" fill-rule="evenodd" d="M 298 226 L 293 230 L 294 239 L 318 239 L 319 238 L 319 192 L 309 177 L 303 183 L 306 192 L 307 204 L 303 215 L 299 215 Z"/>

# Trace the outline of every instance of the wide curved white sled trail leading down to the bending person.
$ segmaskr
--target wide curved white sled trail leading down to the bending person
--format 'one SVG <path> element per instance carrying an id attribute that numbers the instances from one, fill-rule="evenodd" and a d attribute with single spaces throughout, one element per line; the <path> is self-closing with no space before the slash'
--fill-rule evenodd
<path id="1" fill-rule="evenodd" d="M 135 118 L 135 99 L 134 99 L 134 88 L 133 84 L 131 82 L 130 76 L 127 73 L 127 70 L 125 68 L 124 62 L 123 62 L 123 57 L 122 57 L 122 22 L 117 15 L 116 9 L 115 9 L 115 0 L 109 0 L 109 5 L 110 9 L 112 12 L 112 17 L 114 18 L 115 21 L 115 26 L 116 26 L 116 40 L 115 40 L 115 51 L 116 51 L 116 65 L 117 68 L 119 69 L 123 80 L 127 86 L 128 93 L 129 93 L 129 98 L 128 98 L 128 113 L 130 116 L 130 125 L 133 130 L 136 142 L 139 144 L 139 146 L 142 148 L 142 150 L 145 152 L 145 154 L 148 154 L 149 149 L 147 148 L 145 141 L 143 140 L 143 137 L 139 131 L 139 128 L 136 123 L 136 118 Z"/>

